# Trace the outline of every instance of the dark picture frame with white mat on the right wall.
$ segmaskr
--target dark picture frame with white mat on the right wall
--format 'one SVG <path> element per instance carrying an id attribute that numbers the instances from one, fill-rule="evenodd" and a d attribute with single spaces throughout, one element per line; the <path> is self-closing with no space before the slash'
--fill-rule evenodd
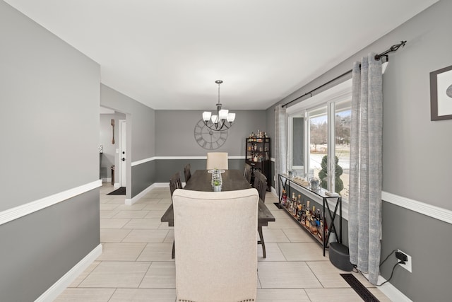
<path id="1" fill-rule="evenodd" d="M 430 120 L 452 119 L 452 66 L 430 73 Z"/>

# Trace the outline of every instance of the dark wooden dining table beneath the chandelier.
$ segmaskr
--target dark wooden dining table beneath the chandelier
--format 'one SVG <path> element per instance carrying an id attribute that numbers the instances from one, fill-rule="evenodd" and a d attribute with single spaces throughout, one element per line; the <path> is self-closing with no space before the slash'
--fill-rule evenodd
<path id="1" fill-rule="evenodd" d="M 212 180 L 212 170 L 196 170 L 186 185 L 184 190 L 194 190 L 203 192 L 212 192 L 213 188 L 211 185 Z M 234 190 L 244 190 L 251 188 L 249 182 L 244 178 L 241 170 L 221 170 L 222 176 L 222 191 L 234 191 Z M 174 211 L 172 204 L 169 205 L 165 214 L 163 214 L 160 219 L 162 222 L 167 222 L 168 226 L 174 226 Z M 266 245 L 263 240 L 262 227 L 268 226 L 268 222 L 275 221 L 275 216 L 266 206 L 262 199 L 259 199 L 258 204 L 258 234 L 261 240 L 258 240 L 258 244 L 262 245 L 263 257 L 266 257 Z M 174 258 L 174 245 L 172 257 Z"/>

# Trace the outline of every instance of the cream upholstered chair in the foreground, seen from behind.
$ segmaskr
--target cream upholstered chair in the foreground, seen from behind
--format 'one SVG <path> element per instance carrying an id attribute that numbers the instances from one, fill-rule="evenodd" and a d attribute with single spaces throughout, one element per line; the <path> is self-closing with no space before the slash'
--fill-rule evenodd
<path id="1" fill-rule="evenodd" d="M 173 194 L 177 301 L 255 301 L 258 192 Z"/>

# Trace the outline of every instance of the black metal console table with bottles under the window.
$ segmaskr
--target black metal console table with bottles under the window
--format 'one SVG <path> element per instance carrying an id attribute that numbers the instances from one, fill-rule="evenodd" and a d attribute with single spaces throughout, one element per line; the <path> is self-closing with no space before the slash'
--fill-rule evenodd
<path id="1" fill-rule="evenodd" d="M 328 191 L 326 191 L 323 188 L 320 188 L 318 190 L 313 190 L 313 189 L 311 189 L 311 187 L 309 187 L 309 185 L 306 184 L 306 182 L 303 182 L 300 179 L 291 178 L 287 174 L 278 174 L 278 180 L 280 182 L 280 186 L 278 187 L 278 196 L 280 197 L 279 208 L 285 209 L 287 214 L 289 216 L 291 216 L 292 219 L 295 219 L 295 221 L 297 221 L 299 223 L 299 226 L 301 226 L 304 229 L 304 231 L 307 231 L 307 233 L 309 233 L 312 237 L 314 237 L 316 239 L 317 242 L 319 242 L 322 245 L 323 257 L 325 256 L 325 250 L 328 246 L 328 240 L 330 238 L 331 231 L 334 231 L 338 235 L 338 243 L 342 243 L 342 197 L 340 197 L 340 195 L 339 196 L 327 195 L 326 192 L 328 192 Z M 323 210 L 322 210 L 323 211 L 323 225 L 325 225 L 325 223 L 326 223 L 327 215 L 328 215 L 329 219 L 331 219 L 331 223 L 328 226 L 328 236 L 325 236 L 325 229 L 323 228 L 323 236 L 322 236 L 322 239 L 320 240 L 320 238 L 317 238 L 316 236 L 314 236 L 314 234 L 312 234 L 307 229 L 307 227 L 303 226 L 302 223 L 300 223 L 297 220 L 297 217 L 290 214 L 290 212 L 287 211 L 287 209 L 281 205 L 281 201 L 283 199 L 283 194 L 281 192 L 281 188 L 286 191 L 287 198 L 290 198 L 290 182 L 298 185 L 299 187 L 302 188 L 302 190 L 306 190 L 307 192 L 311 192 L 311 193 L 316 194 L 317 196 L 321 197 L 322 206 L 323 206 Z M 336 199 L 334 211 L 331 211 L 330 204 L 328 204 L 328 199 Z M 325 210 L 327 210 L 327 211 L 325 211 Z M 338 217 L 338 219 L 339 219 L 339 232 L 336 231 L 335 224 L 334 224 L 336 217 Z"/>

